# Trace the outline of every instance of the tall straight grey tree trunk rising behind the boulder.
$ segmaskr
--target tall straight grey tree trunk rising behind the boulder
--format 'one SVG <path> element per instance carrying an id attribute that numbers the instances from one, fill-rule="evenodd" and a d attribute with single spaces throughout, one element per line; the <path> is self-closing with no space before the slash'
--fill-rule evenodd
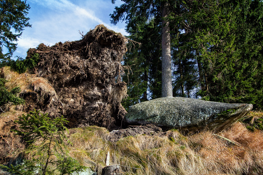
<path id="1" fill-rule="evenodd" d="M 168 17 L 168 1 L 161 3 L 162 17 Z M 173 97 L 171 76 L 171 46 L 169 22 L 162 19 L 162 97 Z"/>

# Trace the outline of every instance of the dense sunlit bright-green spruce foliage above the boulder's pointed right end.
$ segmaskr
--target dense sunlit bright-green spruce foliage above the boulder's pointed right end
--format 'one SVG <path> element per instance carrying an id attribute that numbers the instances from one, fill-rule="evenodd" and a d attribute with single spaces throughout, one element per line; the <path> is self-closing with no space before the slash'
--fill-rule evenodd
<path id="1" fill-rule="evenodd" d="M 262 7 L 262 1 L 225 1 L 196 15 L 187 45 L 198 53 L 197 95 L 262 108 Z"/>

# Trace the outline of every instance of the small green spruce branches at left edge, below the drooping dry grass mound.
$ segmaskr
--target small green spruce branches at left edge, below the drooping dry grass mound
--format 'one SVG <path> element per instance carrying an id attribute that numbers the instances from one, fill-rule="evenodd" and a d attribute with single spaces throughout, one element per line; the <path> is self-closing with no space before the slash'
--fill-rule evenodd
<path id="1" fill-rule="evenodd" d="M 0 78 L 0 107 L 7 103 L 13 103 L 15 105 L 24 103 L 24 100 L 18 97 L 20 88 L 15 87 L 9 92 L 4 86 L 6 82 L 6 79 Z"/>

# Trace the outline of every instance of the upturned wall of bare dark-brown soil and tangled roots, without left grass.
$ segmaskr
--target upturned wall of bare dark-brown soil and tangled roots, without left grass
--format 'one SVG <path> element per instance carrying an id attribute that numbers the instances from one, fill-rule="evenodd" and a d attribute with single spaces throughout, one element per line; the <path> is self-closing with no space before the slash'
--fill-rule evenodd
<path id="1" fill-rule="evenodd" d="M 63 115 L 70 121 L 69 128 L 97 125 L 110 129 L 119 125 L 126 113 L 120 104 L 126 95 L 126 84 L 118 78 L 125 52 L 123 35 L 103 25 L 79 41 L 59 42 L 51 47 L 40 44 L 37 49 L 29 49 L 27 59 L 34 54 L 39 54 L 40 59 L 31 72 L 47 79 L 51 86 L 34 86 L 39 99 L 45 98 L 37 103 L 39 109 L 51 117 Z M 26 98 L 26 104 L 32 103 L 30 99 Z"/>

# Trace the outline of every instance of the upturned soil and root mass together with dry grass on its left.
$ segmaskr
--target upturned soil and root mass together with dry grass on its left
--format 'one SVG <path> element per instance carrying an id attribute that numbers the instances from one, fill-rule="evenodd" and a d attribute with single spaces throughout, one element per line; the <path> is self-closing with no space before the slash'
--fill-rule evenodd
<path id="1" fill-rule="evenodd" d="M 37 60 L 37 66 L 26 73 L 0 68 L 7 91 L 19 87 L 18 96 L 24 100 L 20 105 L 0 106 L 0 161 L 8 161 L 16 148 L 24 147 L 23 140 L 11 130 L 18 129 L 14 124 L 18 116 L 34 109 L 50 118 L 63 115 L 69 121 L 68 128 L 119 127 L 127 113 L 120 103 L 127 92 L 120 77 L 126 44 L 122 34 L 98 25 L 79 41 L 29 49 L 26 60 Z"/>

